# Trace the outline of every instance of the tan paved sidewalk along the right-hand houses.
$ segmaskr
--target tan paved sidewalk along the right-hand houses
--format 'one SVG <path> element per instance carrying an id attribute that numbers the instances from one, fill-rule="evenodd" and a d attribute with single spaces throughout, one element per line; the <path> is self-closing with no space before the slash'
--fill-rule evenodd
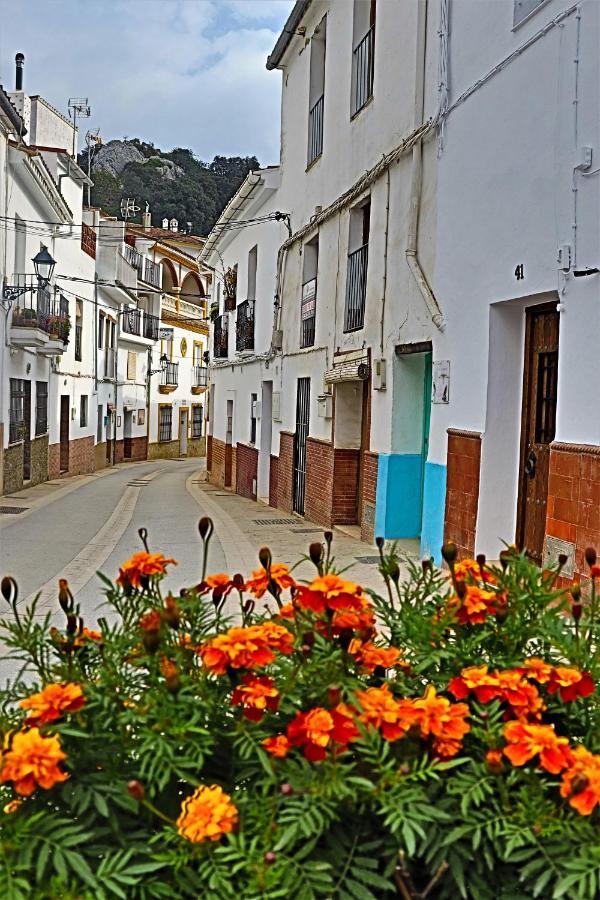
<path id="1" fill-rule="evenodd" d="M 324 529 L 321 526 L 214 487 L 204 480 L 205 477 L 203 470 L 195 472 L 188 478 L 186 488 L 213 519 L 229 574 L 241 572 L 248 576 L 251 571 L 259 569 L 258 551 L 265 544 L 270 548 L 274 562 L 293 565 L 303 554 L 308 554 L 311 543 L 323 541 Z M 403 550 L 418 558 L 414 554 L 416 542 L 399 543 L 403 545 Z M 377 570 L 379 553 L 375 546 L 336 528 L 332 552 L 336 567 L 347 568 L 345 577 L 349 580 L 378 593 L 385 591 Z M 210 556 L 208 569 L 210 572 Z M 315 567 L 310 561 L 305 561 L 294 570 L 294 574 L 300 580 L 314 578 Z"/>

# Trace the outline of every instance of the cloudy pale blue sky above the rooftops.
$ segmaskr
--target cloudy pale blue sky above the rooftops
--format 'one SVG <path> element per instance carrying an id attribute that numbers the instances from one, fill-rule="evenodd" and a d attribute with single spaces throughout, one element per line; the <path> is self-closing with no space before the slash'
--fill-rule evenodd
<path id="1" fill-rule="evenodd" d="M 267 55 L 292 0 L 0 0 L 0 84 L 61 112 L 87 97 L 82 123 L 106 142 L 139 137 L 163 151 L 279 157 L 281 74 Z"/>

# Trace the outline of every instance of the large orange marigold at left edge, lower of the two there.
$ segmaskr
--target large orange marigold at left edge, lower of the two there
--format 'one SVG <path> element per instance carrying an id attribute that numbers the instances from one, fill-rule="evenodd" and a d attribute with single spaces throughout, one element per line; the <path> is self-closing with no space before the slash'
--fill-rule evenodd
<path id="1" fill-rule="evenodd" d="M 0 783 L 12 781 L 17 794 L 29 797 L 36 787 L 50 790 L 69 777 L 60 768 L 67 758 L 56 735 L 43 737 L 38 728 L 17 731 L 2 754 Z"/>

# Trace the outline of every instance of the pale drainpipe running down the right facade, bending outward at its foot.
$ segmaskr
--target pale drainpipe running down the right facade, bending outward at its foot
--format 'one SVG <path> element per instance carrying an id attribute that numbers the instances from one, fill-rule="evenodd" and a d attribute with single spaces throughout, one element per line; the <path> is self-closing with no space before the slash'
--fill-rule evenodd
<path id="1" fill-rule="evenodd" d="M 425 114 L 425 50 L 427 42 L 427 7 L 428 0 L 418 4 L 417 12 L 417 53 L 415 68 L 415 112 L 414 123 L 418 128 L 423 122 Z M 410 206 L 408 239 L 405 250 L 406 262 L 417 283 L 423 300 L 431 315 L 431 321 L 440 331 L 444 330 L 444 316 L 431 287 L 421 268 L 417 255 L 417 242 L 419 234 L 419 211 L 421 207 L 421 187 L 423 182 L 423 152 L 422 140 L 418 140 L 412 153 L 412 176 L 410 186 Z"/>

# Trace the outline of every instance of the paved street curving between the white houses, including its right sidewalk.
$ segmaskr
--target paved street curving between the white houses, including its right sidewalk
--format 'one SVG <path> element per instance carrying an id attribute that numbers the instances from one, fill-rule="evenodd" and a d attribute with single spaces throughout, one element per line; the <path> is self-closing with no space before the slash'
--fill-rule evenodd
<path id="1" fill-rule="evenodd" d="M 148 530 L 151 551 L 177 560 L 165 581 L 175 593 L 200 578 L 197 524 L 203 515 L 215 524 L 212 572 L 249 575 L 258 568 L 257 552 L 263 544 L 271 547 L 274 559 L 293 565 L 310 542 L 322 537 L 322 529 L 305 519 L 207 484 L 204 461 L 198 459 L 124 464 L 28 488 L 4 497 L 3 504 L 24 512 L 0 516 L 0 573 L 16 579 L 21 604 L 41 594 L 40 616 L 53 611 L 59 624 L 58 578 L 68 579 L 86 624 L 94 627 L 103 614 L 96 572 L 115 578 L 120 564 L 142 549 L 142 527 Z M 373 547 L 336 532 L 334 550 L 337 565 L 351 567 L 349 578 L 381 589 Z M 299 578 L 310 578 L 313 572 L 307 562 L 296 570 Z M 0 677 L 9 670 L 6 661 L 1 663 Z"/>

